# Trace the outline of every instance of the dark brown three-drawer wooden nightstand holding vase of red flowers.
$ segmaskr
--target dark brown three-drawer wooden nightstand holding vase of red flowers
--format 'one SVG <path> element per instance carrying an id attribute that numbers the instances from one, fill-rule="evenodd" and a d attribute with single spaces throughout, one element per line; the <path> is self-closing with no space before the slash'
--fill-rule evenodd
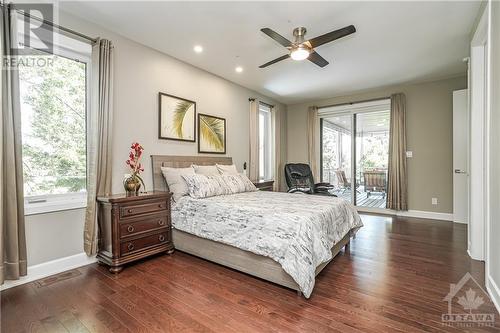
<path id="1" fill-rule="evenodd" d="M 170 193 L 147 192 L 97 198 L 99 243 L 97 259 L 119 273 L 123 265 L 144 257 L 174 252 L 170 223 Z"/>

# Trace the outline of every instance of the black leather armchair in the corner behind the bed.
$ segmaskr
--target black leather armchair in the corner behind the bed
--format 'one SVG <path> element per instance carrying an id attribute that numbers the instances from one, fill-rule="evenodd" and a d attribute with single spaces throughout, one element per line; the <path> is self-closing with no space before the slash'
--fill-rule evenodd
<path id="1" fill-rule="evenodd" d="M 314 183 L 311 168 L 304 163 L 290 163 L 285 165 L 285 179 L 288 185 L 288 193 L 305 193 L 315 195 L 328 195 L 336 197 L 330 193 L 333 185 L 329 183 Z"/>

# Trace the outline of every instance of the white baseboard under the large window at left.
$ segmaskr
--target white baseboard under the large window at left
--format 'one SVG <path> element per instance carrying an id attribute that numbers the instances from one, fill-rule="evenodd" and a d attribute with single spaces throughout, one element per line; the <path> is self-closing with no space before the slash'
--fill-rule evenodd
<path id="1" fill-rule="evenodd" d="M 5 281 L 5 283 L 0 286 L 0 290 L 9 289 L 21 284 L 42 279 L 50 275 L 92 264 L 94 262 L 96 262 L 95 256 L 88 257 L 85 253 L 82 252 L 69 257 L 44 262 L 38 265 L 28 266 L 28 275 L 21 277 L 19 280 Z"/>

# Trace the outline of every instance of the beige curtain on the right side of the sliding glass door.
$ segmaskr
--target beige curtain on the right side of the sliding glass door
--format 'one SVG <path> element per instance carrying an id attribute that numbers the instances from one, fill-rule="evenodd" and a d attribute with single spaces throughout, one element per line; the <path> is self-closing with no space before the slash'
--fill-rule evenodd
<path id="1" fill-rule="evenodd" d="M 408 210 L 406 97 L 404 94 L 394 94 L 391 96 L 388 178 L 387 208 Z"/>

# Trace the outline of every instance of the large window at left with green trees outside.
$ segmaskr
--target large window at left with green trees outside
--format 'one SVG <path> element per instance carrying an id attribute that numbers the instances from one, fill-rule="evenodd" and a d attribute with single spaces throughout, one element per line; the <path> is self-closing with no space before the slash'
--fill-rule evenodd
<path id="1" fill-rule="evenodd" d="M 24 24 L 24 18 L 19 20 Z M 20 28 L 19 34 L 23 31 Z M 53 54 L 32 49 L 30 55 L 20 58 L 22 162 L 27 215 L 86 204 L 90 52 L 89 44 L 54 32 Z"/>

